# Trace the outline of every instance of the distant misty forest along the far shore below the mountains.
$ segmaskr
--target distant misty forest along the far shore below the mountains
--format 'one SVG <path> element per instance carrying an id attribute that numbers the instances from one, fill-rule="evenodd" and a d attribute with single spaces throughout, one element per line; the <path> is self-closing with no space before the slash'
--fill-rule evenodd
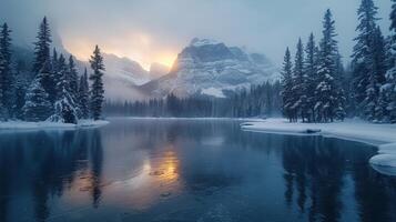
<path id="1" fill-rule="evenodd" d="M 169 94 L 164 99 L 135 102 L 111 102 L 104 104 L 108 115 L 174 117 L 174 118 L 252 118 L 274 117 L 281 112 L 281 83 L 278 81 L 253 85 L 229 98 L 193 95 L 177 98 Z"/>

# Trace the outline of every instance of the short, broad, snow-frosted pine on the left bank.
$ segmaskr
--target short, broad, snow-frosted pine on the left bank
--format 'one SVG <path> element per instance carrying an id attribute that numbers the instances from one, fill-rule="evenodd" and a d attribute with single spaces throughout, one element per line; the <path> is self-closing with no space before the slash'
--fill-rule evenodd
<path id="1" fill-rule="evenodd" d="M 49 67 L 48 62 L 44 63 L 44 67 Z M 30 83 L 29 90 L 24 98 L 26 103 L 22 110 L 24 120 L 27 121 L 44 121 L 52 113 L 52 104 L 44 87 L 42 85 L 42 82 L 43 74 L 40 71 Z"/>

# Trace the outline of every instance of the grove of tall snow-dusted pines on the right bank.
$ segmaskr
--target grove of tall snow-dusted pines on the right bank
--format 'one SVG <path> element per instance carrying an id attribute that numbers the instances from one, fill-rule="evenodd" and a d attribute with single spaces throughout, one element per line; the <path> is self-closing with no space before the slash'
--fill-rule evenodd
<path id="1" fill-rule="evenodd" d="M 376 23 L 373 0 L 362 0 L 352 62 L 345 69 L 335 39 L 331 10 L 323 20 L 318 44 L 312 33 L 298 40 L 294 62 L 287 48 L 282 70 L 282 111 L 291 122 L 333 122 L 359 117 L 372 122 L 396 122 L 396 2 L 390 37 Z"/>

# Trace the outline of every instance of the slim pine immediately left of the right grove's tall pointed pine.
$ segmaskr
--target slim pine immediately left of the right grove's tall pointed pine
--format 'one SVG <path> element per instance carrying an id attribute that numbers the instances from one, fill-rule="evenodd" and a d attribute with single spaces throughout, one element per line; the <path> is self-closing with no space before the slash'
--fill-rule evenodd
<path id="1" fill-rule="evenodd" d="M 305 48 L 305 62 L 304 62 L 304 94 L 306 95 L 306 105 L 307 105 L 307 121 L 315 121 L 315 91 L 317 84 L 317 64 L 316 64 L 316 43 L 315 37 L 311 33 L 308 42 Z"/>

